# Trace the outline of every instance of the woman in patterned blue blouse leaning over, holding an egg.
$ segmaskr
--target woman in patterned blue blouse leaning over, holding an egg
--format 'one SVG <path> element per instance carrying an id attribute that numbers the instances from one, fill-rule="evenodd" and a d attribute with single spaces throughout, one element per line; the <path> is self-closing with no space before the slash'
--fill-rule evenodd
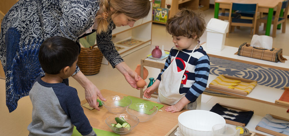
<path id="1" fill-rule="evenodd" d="M 0 34 L 0 60 L 6 76 L 6 105 L 9 112 L 20 98 L 29 95 L 34 80 L 44 75 L 38 61 L 40 45 L 47 38 L 78 39 L 97 32 L 97 44 L 112 67 L 120 71 L 133 88 L 141 78 L 130 69 L 112 43 L 112 26 L 134 26 L 147 16 L 149 0 L 41 0 L 18 1 L 5 15 Z M 79 45 L 80 48 L 80 45 Z M 85 89 L 90 106 L 99 110 L 99 89 L 79 67 L 72 76 Z M 63 80 L 68 85 L 68 79 Z M 139 89 L 139 88 L 137 88 Z"/>

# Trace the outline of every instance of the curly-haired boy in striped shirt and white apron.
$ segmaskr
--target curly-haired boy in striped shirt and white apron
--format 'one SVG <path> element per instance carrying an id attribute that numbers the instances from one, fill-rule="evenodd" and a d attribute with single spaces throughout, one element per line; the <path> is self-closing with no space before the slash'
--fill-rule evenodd
<path id="1" fill-rule="evenodd" d="M 157 101 L 171 105 L 165 110 L 172 113 L 197 108 L 196 100 L 206 89 L 210 72 L 209 56 L 199 45 L 205 28 L 201 13 L 190 9 L 181 9 L 167 20 L 166 31 L 173 36 L 175 46 L 144 97 L 151 98 L 158 90 Z"/>

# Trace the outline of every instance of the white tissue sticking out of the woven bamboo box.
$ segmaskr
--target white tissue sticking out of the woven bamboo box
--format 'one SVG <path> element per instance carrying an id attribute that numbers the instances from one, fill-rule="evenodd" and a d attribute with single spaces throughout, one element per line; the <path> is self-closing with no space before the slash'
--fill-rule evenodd
<path id="1" fill-rule="evenodd" d="M 254 34 L 250 43 L 250 46 L 272 49 L 273 38 L 271 36 L 266 35 L 257 35 Z"/>

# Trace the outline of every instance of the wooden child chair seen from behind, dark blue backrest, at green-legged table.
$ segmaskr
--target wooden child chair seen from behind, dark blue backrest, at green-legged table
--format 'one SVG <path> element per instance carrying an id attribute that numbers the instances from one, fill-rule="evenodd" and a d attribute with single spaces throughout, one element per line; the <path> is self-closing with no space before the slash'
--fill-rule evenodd
<path id="1" fill-rule="evenodd" d="M 229 15 L 229 22 L 230 22 L 230 28 L 231 32 L 234 32 L 234 26 L 246 26 L 251 27 L 252 34 L 252 28 L 253 28 L 253 34 L 255 34 L 255 27 L 257 22 L 257 11 L 258 11 L 258 3 L 257 4 L 241 4 L 241 3 L 233 3 L 232 4 L 232 10 L 239 10 L 239 11 L 246 11 L 246 12 L 255 12 L 253 19 L 238 19 L 238 18 L 231 18 Z M 231 14 L 231 13 L 230 13 Z M 227 34 L 228 37 L 228 34 Z"/>

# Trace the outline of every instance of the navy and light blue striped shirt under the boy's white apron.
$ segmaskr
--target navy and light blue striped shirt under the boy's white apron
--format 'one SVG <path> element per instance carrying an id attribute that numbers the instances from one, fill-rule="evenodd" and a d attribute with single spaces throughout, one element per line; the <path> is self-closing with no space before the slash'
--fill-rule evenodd
<path id="1" fill-rule="evenodd" d="M 178 51 L 179 49 L 175 46 L 171 49 L 170 54 L 166 60 L 164 69 L 162 69 L 162 72 L 157 78 L 158 80 L 161 80 L 162 73 L 171 64 L 173 59 L 176 59 L 178 71 L 185 69 L 186 63 L 188 61 L 188 58 L 190 57 L 192 50 L 183 49 L 180 50 L 179 54 L 177 55 Z M 188 66 L 181 81 L 179 93 L 186 93 L 185 97 L 191 102 L 196 101 L 199 95 L 202 94 L 207 87 L 209 72 L 209 56 L 203 50 L 203 47 L 200 46 L 199 49 L 195 49 L 188 62 Z"/>

